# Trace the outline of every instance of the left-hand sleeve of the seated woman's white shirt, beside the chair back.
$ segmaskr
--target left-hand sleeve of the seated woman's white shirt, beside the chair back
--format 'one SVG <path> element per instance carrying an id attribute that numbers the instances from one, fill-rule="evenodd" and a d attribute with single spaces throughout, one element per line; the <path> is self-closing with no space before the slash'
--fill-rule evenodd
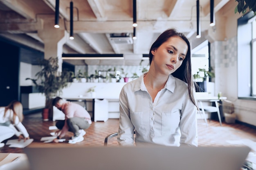
<path id="1" fill-rule="evenodd" d="M 134 126 L 130 120 L 130 111 L 128 108 L 128 99 L 124 88 L 122 88 L 119 96 L 119 130 L 117 141 L 119 146 L 134 146 Z"/>

